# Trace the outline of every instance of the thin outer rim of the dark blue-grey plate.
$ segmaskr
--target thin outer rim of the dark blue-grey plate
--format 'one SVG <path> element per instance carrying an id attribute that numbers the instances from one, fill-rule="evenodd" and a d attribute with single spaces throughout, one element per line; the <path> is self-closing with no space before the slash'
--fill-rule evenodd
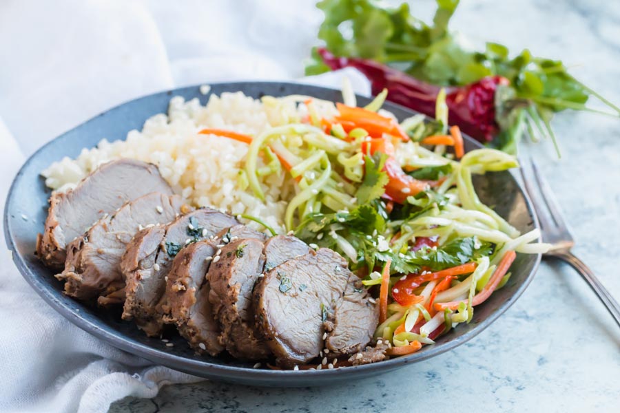
<path id="1" fill-rule="evenodd" d="M 210 85 L 211 87 L 224 86 L 224 87 L 230 87 L 231 89 L 235 87 L 235 85 L 242 86 L 242 85 L 248 85 L 248 84 L 250 85 L 271 85 L 273 87 L 275 86 L 280 86 L 280 87 L 302 86 L 302 87 L 309 87 L 311 89 L 315 89 L 317 91 L 322 91 L 322 92 L 339 92 L 338 89 L 335 89 L 332 87 L 324 87 L 324 86 L 318 86 L 318 85 L 313 85 L 309 83 L 293 82 L 293 81 L 234 81 L 234 82 L 215 82 L 215 83 L 207 83 L 207 84 Z M 12 261 L 14 262 L 15 266 L 17 266 L 17 269 L 19 270 L 21 276 L 25 278 L 28 284 L 37 292 L 37 294 L 39 294 L 40 297 L 43 298 L 45 302 L 48 303 L 48 305 L 50 305 L 54 309 L 54 311 L 56 311 L 56 313 L 59 313 L 60 315 L 65 317 L 65 319 L 68 319 L 68 321 L 70 321 L 72 324 L 78 326 L 79 328 L 93 335 L 97 339 L 101 339 L 102 341 L 105 341 L 106 343 L 109 343 L 111 346 L 114 346 L 120 350 L 130 352 L 138 357 L 143 357 L 149 361 L 158 363 L 161 366 L 166 366 L 168 368 L 172 368 L 173 370 L 186 372 L 187 374 L 192 374 L 192 375 L 199 374 L 201 377 L 205 377 L 208 379 L 218 379 L 221 381 L 237 381 L 240 383 L 253 382 L 254 385 L 261 385 L 259 383 L 260 381 L 263 381 L 264 383 L 262 383 L 262 385 L 268 386 L 268 385 L 273 385 L 273 383 L 276 383 L 276 385 L 280 387 L 284 387 L 281 384 L 279 384 L 279 383 L 282 383 L 281 381 L 282 379 L 291 379 L 291 377 L 295 377 L 296 379 L 297 378 L 308 379 L 309 381 L 313 381 L 314 382 L 313 385 L 321 385 L 320 381 L 318 380 L 320 378 L 327 379 L 328 377 L 337 377 L 337 376 L 340 376 L 342 374 L 347 374 L 347 373 L 349 373 L 347 375 L 355 375 L 355 372 L 360 373 L 360 374 L 363 372 L 364 376 L 370 375 L 373 372 L 376 372 L 376 373 L 387 372 L 389 370 L 394 370 L 395 368 L 400 368 L 408 363 L 416 363 L 418 361 L 424 361 L 426 359 L 430 359 L 431 357 L 435 357 L 444 352 L 448 352 L 449 350 L 453 350 L 457 346 L 461 346 L 462 344 L 466 343 L 467 341 L 470 341 L 471 339 L 479 335 L 481 332 L 486 330 L 486 328 L 488 328 L 488 326 L 493 324 L 499 318 L 499 316 L 503 315 L 506 312 L 506 310 L 508 310 L 508 308 L 513 306 L 515 301 L 517 301 L 517 299 L 521 297 L 521 295 L 524 293 L 526 288 L 528 288 L 533 278 L 535 277 L 535 274 L 537 273 L 539 264 L 541 262 L 541 254 L 535 254 L 535 261 L 533 263 L 532 269 L 530 270 L 528 275 L 526 275 L 524 282 L 522 282 L 521 285 L 518 286 L 517 290 L 515 290 L 515 293 L 513 293 L 513 295 L 511 295 L 506 301 L 504 301 L 504 303 L 499 305 L 498 308 L 495 311 L 493 311 L 493 313 L 490 313 L 490 315 L 488 315 L 486 319 L 480 321 L 479 324 L 477 324 L 475 328 L 472 328 L 470 331 L 465 332 L 463 335 L 460 335 L 459 337 L 456 337 L 455 339 L 451 341 L 442 343 L 440 346 L 432 346 L 428 348 L 428 350 L 425 350 L 424 352 L 416 352 L 413 354 L 409 354 L 407 356 L 396 357 L 393 359 L 384 360 L 384 361 L 380 361 L 377 363 L 364 364 L 362 366 L 348 366 L 347 368 L 342 368 L 342 369 L 334 368 L 334 369 L 322 369 L 322 370 L 265 370 L 265 369 L 254 369 L 254 368 L 247 368 L 247 367 L 241 367 L 241 366 L 228 366 L 225 364 L 211 363 L 210 361 L 206 361 L 206 360 L 201 361 L 198 359 L 189 359 L 186 357 L 178 356 L 176 354 L 165 352 L 163 350 L 157 350 L 156 348 L 153 348 L 152 346 L 148 346 L 147 344 L 134 341 L 133 339 L 126 337 L 122 333 L 118 333 L 117 335 L 110 334 L 110 332 L 107 332 L 106 330 L 100 328 L 98 325 L 82 317 L 81 314 L 79 313 L 79 310 L 74 310 L 70 308 L 69 306 L 65 305 L 63 302 L 61 302 L 57 297 L 56 291 L 52 290 L 52 288 L 49 288 L 48 283 L 43 282 L 41 279 L 37 279 L 37 277 L 34 276 L 35 271 L 32 271 L 28 267 L 28 264 L 25 262 L 21 254 L 17 251 L 17 245 L 14 242 L 14 231 L 12 231 L 12 226 L 9 220 L 9 215 L 10 215 L 9 207 L 12 204 L 11 201 L 12 201 L 15 185 L 17 184 L 19 177 L 23 174 L 24 169 L 30 164 L 30 162 L 32 162 L 33 158 L 39 155 L 39 153 L 44 152 L 48 146 L 53 144 L 53 142 L 55 142 L 59 138 L 62 138 L 63 136 L 70 133 L 74 129 L 79 128 L 89 123 L 91 120 L 94 120 L 95 118 L 99 118 L 100 116 L 103 116 L 107 112 L 110 112 L 114 109 L 118 109 L 119 107 L 123 107 L 127 103 L 133 103 L 133 102 L 136 102 L 137 100 L 149 99 L 149 98 L 152 98 L 153 96 L 161 95 L 161 94 L 167 94 L 167 96 L 171 96 L 172 98 L 175 92 L 178 93 L 178 91 L 180 90 L 192 89 L 192 88 L 200 89 L 200 86 L 203 86 L 203 85 L 205 85 L 205 83 L 200 83 L 198 85 L 177 87 L 174 89 L 165 89 L 161 92 L 156 92 L 156 93 L 147 94 L 145 96 L 141 96 L 138 98 L 125 100 L 123 103 L 115 105 L 114 107 L 110 107 L 109 109 L 106 109 L 104 112 L 101 112 L 100 114 L 93 116 L 92 118 L 88 120 L 85 120 L 85 122 L 72 127 L 68 131 L 63 132 L 63 134 L 56 136 L 49 142 L 46 142 L 44 145 L 39 147 L 39 149 L 37 149 L 37 151 L 34 151 L 28 157 L 28 160 L 26 160 L 23 163 L 23 165 L 20 167 L 19 171 L 17 172 L 17 174 L 12 180 L 12 183 L 10 185 L 10 189 L 8 191 L 8 195 L 6 198 L 6 203 L 4 207 L 4 213 L 3 213 L 4 237 L 6 240 L 7 247 L 9 248 L 11 252 Z M 238 88 L 237 90 L 240 90 L 241 92 L 243 92 L 241 88 Z M 210 93 L 211 92 L 209 92 L 206 96 L 210 96 Z M 367 96 L 360 96 L 360 95 L 356 95 L 356 96 L 362 100 L 368 99 Z M 416 111 L 413 111 L 412 109 L 409 109 L 409 108 L 403 107 L 402 105 L 398 105 L 398 104 L 391 103 L 391 102 L 386 102 L 385 106 L 395 107 L 397 109 L 404 110 L 411 114 L 418 113 Z M 475 146 L 482 147 L 482 145 L 480 145 L 477 141 L 473 140 L 473 138 L 469 136 L 464 136 L 464 138 L 468 140 L 470 143 L 473 143 Z M 524 190 L 521 182 L 519 182 L 519 180 L 515 178 L 512 172 L 510 172 L 510 175 L 515 181 L 517 191 L 521 194 L 521 196 L 523 196 L 525 200 L 526 208 L 528 210 L 528 214 L 530 215 L 530 218 L 533 220 L 534 228 L 539 229 L 540 228 L 539 220 L 537 218 L 536 211 L 533 208 L 531 200 L 528 196 L 528 193 Z M 200 373 L 198 373 L 197 370 L 200 370 Z M 327 382 L 325 384 L 327 384 Z M 296 385 L 300 385 L 300 384 L 289 383 L 286 387 L 293 387 Z M 307 383 L 302 383 L 301 385 L 307 385 Z"/>

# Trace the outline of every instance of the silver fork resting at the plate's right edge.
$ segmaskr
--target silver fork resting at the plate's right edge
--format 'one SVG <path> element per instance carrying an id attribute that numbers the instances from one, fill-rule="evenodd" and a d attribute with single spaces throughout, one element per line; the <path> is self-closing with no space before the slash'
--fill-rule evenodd
<path id="1" fill-rule="evenodd" d="M 541 176 L 533 160 L 530 160 L 529 168 L 521 164 L 521 178 L 523 178 L 526 191 L 530 195 L 530 200 L 532 200 L 538 215 L 542 240 L 552 245 L 550 251 L 544 254 L 543 257 L 562 260 L 570 264 L 572 268 L 575 268 L 577 273 L 586 280 L 590 288 L 599 296 L 599 299 L 603 301 L 607 310 L 614 317 L 618 326 L 620 326 L 620 306 L 618 302 L 603 287 L 603 284 L 595 277 L 592 270 L 570 252 L 570 248 L 575 245 L 575 239 L 572 237 L 568 225 L 561 215 L 549 184 Z"/>

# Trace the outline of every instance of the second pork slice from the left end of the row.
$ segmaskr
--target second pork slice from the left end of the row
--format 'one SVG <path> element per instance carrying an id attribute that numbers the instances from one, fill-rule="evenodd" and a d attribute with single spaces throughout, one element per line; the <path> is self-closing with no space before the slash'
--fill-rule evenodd
<path id="1" fill-rule="evenodd" d="M 65 293 L 92 299 L 122 288 L 121 257 L 127 244 L 143 226 L 166 224 L 185 211 L 178 195 L 154 192 L 127 202 L 112 216 L 101 218 L 67 248 L 64 271 L 56 275 L 65 281 Z"/>

